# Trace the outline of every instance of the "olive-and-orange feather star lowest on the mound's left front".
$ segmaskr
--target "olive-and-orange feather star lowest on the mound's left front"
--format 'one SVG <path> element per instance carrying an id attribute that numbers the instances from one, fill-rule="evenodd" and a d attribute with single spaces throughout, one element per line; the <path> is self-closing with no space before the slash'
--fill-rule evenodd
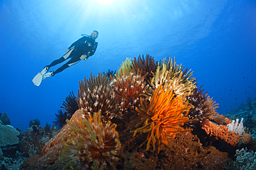
<path id="1" fill-rule="evenodd" d="M 74 118 L 74 116 L 76 116 Z M 116 124 L 102 123 L 100 111 L 87 120 L 73 116 L 71 134 L 65 135 L 64 152 L 61 160 L 69 160 L 64 169 L 116 169 L 115 162 L 121 147 Z"/>

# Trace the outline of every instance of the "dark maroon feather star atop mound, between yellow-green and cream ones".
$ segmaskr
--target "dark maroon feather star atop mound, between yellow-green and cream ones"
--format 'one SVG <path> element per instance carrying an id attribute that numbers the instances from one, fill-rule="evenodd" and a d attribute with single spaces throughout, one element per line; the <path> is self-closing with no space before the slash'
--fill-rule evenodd
<path id="1" fill-rule="evenodd" d="M 134 60 L 131 61 L 132 71 L 136 73 L 136 75 L 148 75 L 151 76 L 152 72 L 156 71 L 156 63 L 154 61 L 154 57 L 146 55 L 146 57 L 138 56 L 138 60 L 134 57 Z"/>

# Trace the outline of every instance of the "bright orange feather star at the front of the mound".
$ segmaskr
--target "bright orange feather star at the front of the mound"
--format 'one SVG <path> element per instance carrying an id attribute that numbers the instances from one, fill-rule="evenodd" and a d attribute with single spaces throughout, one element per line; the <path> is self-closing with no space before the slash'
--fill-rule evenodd
<path id="1" fill-rule="evenodd" d="M 152 144 L 153 151 L 158 145 L 158 153 L 160 151 L 160 143 L 167 145 L 167 138 L 174 138 L 175 134 L 181 131 L 190 131 L 192 129 L 184 129 L 181 127 L 184 123 L 188 123 L 188 111 L 190 105 L 188 101 L 183 103 L 185 96 L 176 96 L 172 89 L 163 89 L 160 85 L 154 90 L 150 102 L 148 100 L 140 100 L 140 107 L 136 107 L 138 115 L 142 116 L 139 127 L 134 131 L 136 133 L 148 133 L 147 140 L 143 142 L 142 147 L 147 142 L 149 150 Z"/>

